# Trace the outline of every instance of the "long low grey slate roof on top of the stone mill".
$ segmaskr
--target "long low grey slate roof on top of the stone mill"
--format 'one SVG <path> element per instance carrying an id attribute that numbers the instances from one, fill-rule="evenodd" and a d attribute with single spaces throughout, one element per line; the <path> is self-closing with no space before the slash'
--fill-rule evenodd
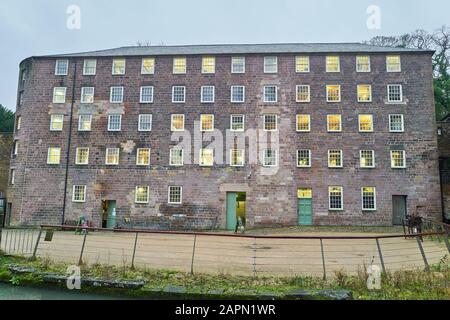
<path id="1" fill-rule="evenodd" d="M 430 53 L 429 50 L 380 47 L 363 43 L 276 43 L 219 44 L 182 46 L 134 46 L 90 52 L 47 55 L 42 57 L 113 57 L 204 54 L 275 54 L 275 53 Z"/>

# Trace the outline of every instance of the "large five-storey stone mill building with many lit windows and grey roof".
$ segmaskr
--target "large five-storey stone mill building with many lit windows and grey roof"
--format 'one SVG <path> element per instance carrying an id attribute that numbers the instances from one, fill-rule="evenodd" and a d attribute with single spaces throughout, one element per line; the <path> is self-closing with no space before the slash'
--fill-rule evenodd
<path id="1" fill-rule="evenodd" d="M 9 220 L 392 225 L 418 207 L 441 219 L 432 54 L 330 43 L 30 57 Z"/>

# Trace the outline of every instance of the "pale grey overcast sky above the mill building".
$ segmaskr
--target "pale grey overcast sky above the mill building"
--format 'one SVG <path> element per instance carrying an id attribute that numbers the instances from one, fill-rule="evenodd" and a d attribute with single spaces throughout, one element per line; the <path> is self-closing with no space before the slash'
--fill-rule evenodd
<path id="1" fill-rule="evenodd" d="M 71 5 L 80 9 L 79 29 L 67 14 Z M 373 5 L 380 20 L 369 28 L 367 20 L 378 17 L 367 13 Z M 450 24 L 449 12 L 448 0 L 0 0 L 0 104 L 15 109 L 18 65 L 33 55 L 138 41 L 353 42 L 432 31 Z"/>

